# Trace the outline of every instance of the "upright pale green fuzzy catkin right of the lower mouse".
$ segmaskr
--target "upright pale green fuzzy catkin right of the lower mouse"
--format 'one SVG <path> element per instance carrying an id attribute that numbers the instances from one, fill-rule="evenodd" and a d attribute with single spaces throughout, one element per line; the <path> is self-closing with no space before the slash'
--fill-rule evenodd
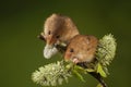
<path id="1" fill-rule="evenodd" d="M 96 52 L 96 58 L 103 70 L 108 74 L 107 65 L 114 60 L 117 42 L 111 34 L 105 35 L 100 40 Z"/>

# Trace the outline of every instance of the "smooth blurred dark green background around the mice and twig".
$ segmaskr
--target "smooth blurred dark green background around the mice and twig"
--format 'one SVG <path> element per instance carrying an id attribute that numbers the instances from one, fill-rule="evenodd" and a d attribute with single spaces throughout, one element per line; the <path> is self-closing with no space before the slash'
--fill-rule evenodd
<path id="1" fill-rule="evenodd" d="M 31 75 L 39 66 L 60 60 L 46 60 L 45 44 L 37 38 L 44 21 L 52 13 L 70 16 L 81 34 L 117 38 L 117 55 L 106 78 L 109 87 L 130 87 L 131 78 L 131 1 L 127 0 L 3 0 L 0 1 L 0 87 L 40 87 Z M 59 87 L 95 87 L 72 77 Z"/>

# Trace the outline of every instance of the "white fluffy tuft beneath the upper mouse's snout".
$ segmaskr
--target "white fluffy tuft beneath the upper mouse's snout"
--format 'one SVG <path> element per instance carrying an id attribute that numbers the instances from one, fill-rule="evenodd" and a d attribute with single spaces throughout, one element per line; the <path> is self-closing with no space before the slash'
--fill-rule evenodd
<path id="1" fill-rule="evenodd" d="M 46 45 L 44 48 L 44 57 L 46 59 L 50 59 L 52 55 L 55 55 L 58 52 L 58 49 L 56 47 Z"/>

